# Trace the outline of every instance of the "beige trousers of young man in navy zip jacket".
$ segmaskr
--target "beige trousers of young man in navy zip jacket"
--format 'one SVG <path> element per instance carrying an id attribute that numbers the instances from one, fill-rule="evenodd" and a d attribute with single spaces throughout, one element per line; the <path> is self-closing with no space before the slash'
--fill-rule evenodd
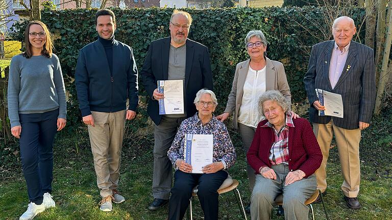
<path id="1" fill-rule="evenodd" d="M 95 126 L 88 125 L 88 134 L 94 157 L 96 184 L 101 189 L 102 197 L 112 196 L 112 189 L 116 189 L 118 185 L 126 110 L 91 114 Z"/>

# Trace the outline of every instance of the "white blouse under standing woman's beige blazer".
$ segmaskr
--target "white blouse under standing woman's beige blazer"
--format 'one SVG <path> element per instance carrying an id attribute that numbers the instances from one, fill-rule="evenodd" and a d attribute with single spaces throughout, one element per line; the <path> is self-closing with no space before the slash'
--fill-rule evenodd
<path id="1" fill-rule="evenodd" d="M 259 98 L 265 92 L 265 67 L 261 70 L 253 70 L 249 66 L 248 75 L 243 85 L 242 102 L 238 111 L 238 122 L 250 127 L 264 119 L 259 113 Z"/>

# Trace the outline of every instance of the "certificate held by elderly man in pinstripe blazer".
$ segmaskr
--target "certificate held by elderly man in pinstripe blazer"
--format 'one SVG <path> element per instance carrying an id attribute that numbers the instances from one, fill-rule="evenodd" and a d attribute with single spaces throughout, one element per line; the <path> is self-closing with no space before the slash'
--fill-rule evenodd
<path id="1" fill-rule="evenodd" d="M 325 110 L 318 111 L 319 116 L 334 116 L 343 118 L 343 101 L 340 94 L 316 89 L 318 101 L 325 106 Z"/>

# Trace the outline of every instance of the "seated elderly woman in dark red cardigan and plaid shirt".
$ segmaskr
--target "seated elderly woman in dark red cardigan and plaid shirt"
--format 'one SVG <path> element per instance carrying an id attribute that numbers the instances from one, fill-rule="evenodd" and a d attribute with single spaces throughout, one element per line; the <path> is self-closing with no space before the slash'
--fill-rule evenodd
<path id="1" fill-rule="evenodd" d="M 279 91 L 266 91 L 259 110 L 266 120 L 257 125 L 247 159 L 256 171 L 251 196 L 254 220 L 270 219 L 275 198 L 283 194 L 285 219 L 307 219 L 304 204 L 316 189 L 314 172 L 323 155 L 306 119 L 292 119 L 289 103 Z"/>

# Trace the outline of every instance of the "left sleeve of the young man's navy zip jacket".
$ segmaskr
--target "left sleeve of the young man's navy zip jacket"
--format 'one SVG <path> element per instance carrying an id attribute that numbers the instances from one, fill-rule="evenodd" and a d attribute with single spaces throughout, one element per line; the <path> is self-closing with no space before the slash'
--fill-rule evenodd
<path id="1" fill-rule="evenodd" d="M 88 102 L 88 72 L 86 68 L 86 60 L 83 50 L 79 52 L 79 58 L 75 72 L 75 86 L 78 94 L 79 108 L 82 117 L 91 115 L 90 105 Z"/>

